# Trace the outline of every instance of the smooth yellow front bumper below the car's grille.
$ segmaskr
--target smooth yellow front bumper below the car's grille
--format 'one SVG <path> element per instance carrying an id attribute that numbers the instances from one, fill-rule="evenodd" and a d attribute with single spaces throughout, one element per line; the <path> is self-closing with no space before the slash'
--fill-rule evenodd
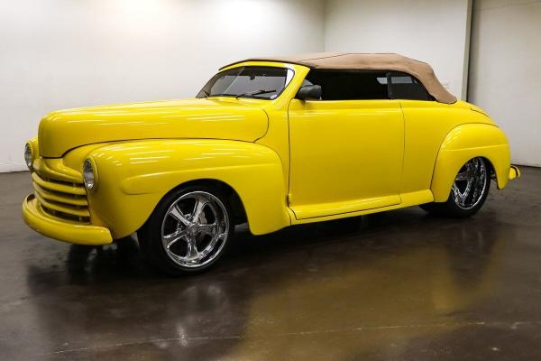
<path id="1" fill-rule="evenodd" d="M 45 213 L 33 194 L 23 201 L 24 222 L 43 236 L 78 245 L 107 245 L 113 242 L 109 229 L 80 225 Z"/>

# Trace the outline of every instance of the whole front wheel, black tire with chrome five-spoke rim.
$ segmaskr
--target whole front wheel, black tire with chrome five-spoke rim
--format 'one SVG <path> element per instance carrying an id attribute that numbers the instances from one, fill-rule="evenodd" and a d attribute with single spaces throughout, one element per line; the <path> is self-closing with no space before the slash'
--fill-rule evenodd
<path id="1" fill-rule="evenodd" d="M 225 197 L 206 187 L 168 194 L 138 232 L 142 253 L 161 271 L 197 273 L 225 252 L 234 226 Z"/>

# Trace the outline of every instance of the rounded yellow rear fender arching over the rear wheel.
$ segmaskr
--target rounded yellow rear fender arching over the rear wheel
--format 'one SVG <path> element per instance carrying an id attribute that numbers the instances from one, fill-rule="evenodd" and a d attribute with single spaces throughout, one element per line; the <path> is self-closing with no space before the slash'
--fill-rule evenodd
<path id="1" fill-rule="evenodd" d="M 491 162 L 499 189 L 507 185 L 510 153 L 505 134 L 496 125 L 459 125 L 447 134 L 437 155 L 431 185 L 436 202 L 447 200 L 456 174 L 475 157 Z"/>

